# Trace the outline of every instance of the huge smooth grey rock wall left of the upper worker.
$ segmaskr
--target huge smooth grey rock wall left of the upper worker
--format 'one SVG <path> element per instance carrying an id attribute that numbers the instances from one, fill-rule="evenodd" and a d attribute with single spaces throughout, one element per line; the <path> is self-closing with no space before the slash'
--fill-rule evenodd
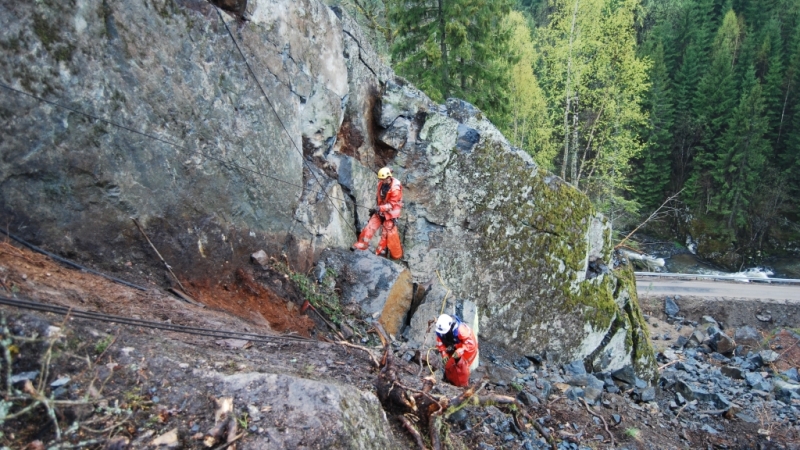
<path id="1" fill-rule="evenodd" d="M 235 44 L 200 0 L 0 5 L 0 40 L 15 43 L 0 64 L 16 68 L 0 81 L 18 91 L 0 94 L 9 229 L 106 269 L 160 273 L 138 217 L 184 279 L 228 272 L 253 248 L 307 265 L 351 241 L 345 195 L 304 173 L 303 157 L 344 117 L 341 23 L 316 0 L 248 8 L 239 32 L 222 15 Z M 306 199 L 324 200 L 313 220 Z"/>

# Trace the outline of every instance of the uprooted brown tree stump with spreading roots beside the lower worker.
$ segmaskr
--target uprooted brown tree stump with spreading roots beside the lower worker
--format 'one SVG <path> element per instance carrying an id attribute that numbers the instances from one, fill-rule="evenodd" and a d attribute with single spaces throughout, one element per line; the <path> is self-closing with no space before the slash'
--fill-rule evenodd
<path id="1" fill-rule="evenodd" d="M 553 449 L 556 448 L 550 433 L 531 419 L 525 411 L 524 405 L 517 399 L 506 395 L 478 395 L 483 390 L 485 383 L 471 386 L 454 398 L 431 394 L 431 390 L 436 384 L 434 377 L 422 378 L 420 380 L 422 389 L 413 389 L 403 385 L 398 377 L 398 366 L 394 361 L 391 341 L 380 323 L 375 323 L 375 328 L 383 343 L 380 371 L 374 382 L 378 399 L 388 412 L 399 417 L 403 427 L 412 435 L 420 449 L 427 448 L 423 438 L 424 432 L 427 430 L 431 447 L 434 450 L 441 450 L 442 428 L 447 426 L 444 419 L 469 405 L 505 406 L 511 411 L 519 430 L 527 431 L 533 427 L 544 436 Z"/>

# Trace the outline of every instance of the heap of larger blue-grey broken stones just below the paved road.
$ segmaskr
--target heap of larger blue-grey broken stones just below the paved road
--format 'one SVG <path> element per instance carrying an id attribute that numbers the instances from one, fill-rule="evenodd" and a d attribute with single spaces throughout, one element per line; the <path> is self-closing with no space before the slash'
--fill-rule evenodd
<path id="1" fill-rule="evenodd" d="M 779 371 L 772 364 L 781 356 L 775 351 L 783 350 L 780 345 L 775 350 L 762 349 L 761 334 L 750 326 L 736 329 L 731 336 L 712 317 L 704 316 L 702 323 L 680 317 L 677 304 L 669 297 L 665 312 L 667 321 L 676 324 L 677 329 L 693 329 L 688 338 L 678 336 L 671 348 L 658 354 L 659 362 L 664 364 L 659 386 L 673 393 L 669 411 L 676 416 L 683 412 L 682 426 L 717 433 L 706 423 L 711 415 L 749 423 L 771 417 L 778 423 L 798 424 L 797 367 Z M 784 332 L 797 345 L 800 335 L 791 330 Z"/>

